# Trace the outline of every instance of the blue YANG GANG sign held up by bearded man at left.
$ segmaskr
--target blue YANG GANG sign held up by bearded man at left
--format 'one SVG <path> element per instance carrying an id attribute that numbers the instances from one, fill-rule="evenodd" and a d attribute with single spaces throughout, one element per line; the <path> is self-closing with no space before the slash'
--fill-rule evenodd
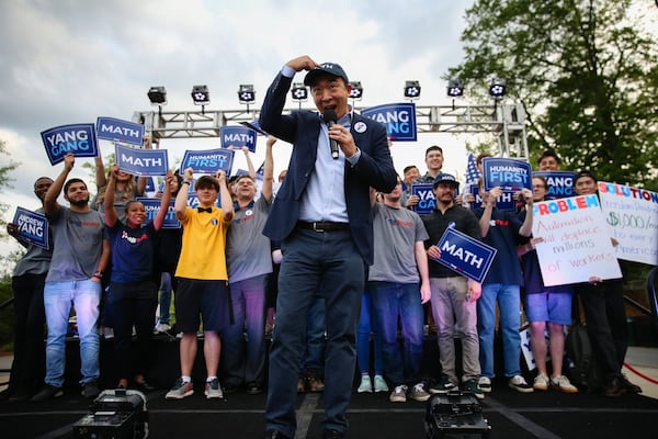
<path id="1" fill-rule="evenodd" d="M 94 124 L 71 124 L 54 126 L 41 133 L 50 165 L 64 161 L 64 156 L 72 153 L 76 157 L 97 157 Z"/>

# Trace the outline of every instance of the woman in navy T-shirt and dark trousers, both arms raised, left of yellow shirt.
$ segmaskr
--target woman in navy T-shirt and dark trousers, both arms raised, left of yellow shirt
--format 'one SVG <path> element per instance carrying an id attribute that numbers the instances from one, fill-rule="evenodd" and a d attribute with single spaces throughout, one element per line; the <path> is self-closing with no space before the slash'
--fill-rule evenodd
<path id="1" fill-rule="evenodd" d="M 105 320 L 114 328 L 114 359 L 117 363 L 118 387 L 127 389 L 128 376 L 135 372 L 138 390 L 151 391 L 144 379 L 148 369 L 154 314 L 157 305 L 158 284 L 154 270 L 156 234 L 162 227 L 169 210 L 171 192 L 166 190 L 160 210 L 152 222 L 147 219 L 144 204 L 128 201 L 125 205 L 125 224 L 118 221 L 114 206 L 116 181 L 121 171 L 117 165 L 110 170 L 105 192 L 105 226 L 112 243 L 112 274 L 105 302 Z M 166 188 L 175 177 L 167 175 Z M 133 326 L 137 333 L 137 358 L 131 361 Z"/>

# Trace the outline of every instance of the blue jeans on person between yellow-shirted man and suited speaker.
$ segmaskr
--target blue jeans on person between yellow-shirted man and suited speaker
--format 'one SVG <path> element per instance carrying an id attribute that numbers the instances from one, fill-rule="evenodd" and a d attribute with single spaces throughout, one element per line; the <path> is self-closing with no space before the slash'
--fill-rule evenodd
<path id="1" fill-rule="evenodd" d="M 222 358 L 227 385 L 263 385 L 266 284 L 268 274 L 261 274 L 229 285 L 235 320 L 222 336 L 222 350 L 227 353 Z"/>

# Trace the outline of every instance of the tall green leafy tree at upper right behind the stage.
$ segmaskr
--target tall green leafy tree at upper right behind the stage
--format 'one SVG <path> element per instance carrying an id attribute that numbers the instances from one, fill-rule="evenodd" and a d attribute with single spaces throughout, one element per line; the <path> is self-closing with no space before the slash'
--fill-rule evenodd
<path id="1" fill-rule="evenodd" d="M 553 147 L 566 169 L 656 190 L 658 50 L 633 3 L 477 0 L 446 78 L 506 79 L 526 109 L 531 157 Z"/>

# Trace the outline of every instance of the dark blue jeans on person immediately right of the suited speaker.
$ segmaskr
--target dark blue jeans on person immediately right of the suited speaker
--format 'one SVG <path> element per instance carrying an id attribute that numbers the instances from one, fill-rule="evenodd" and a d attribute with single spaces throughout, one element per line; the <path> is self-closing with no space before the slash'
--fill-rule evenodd
<path id="1" fill-rule="evenodd" d="M 367 291 L 372 295 L 373 315 L 377 316 L 386 376 L 394 385 L 417 384 L 421 379 L 423 336 L 419 284 L 368 282 Z M 402 333 L 401 348 L 397 338 L 398 317 Z"/>

